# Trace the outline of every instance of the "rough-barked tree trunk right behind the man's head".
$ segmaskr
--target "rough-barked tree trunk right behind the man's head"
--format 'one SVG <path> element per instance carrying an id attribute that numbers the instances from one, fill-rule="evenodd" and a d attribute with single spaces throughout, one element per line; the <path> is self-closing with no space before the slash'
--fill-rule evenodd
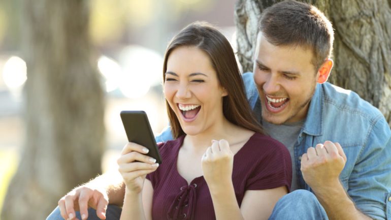
<path id="1" fill-rule="evenodd" d="M 239 0 L 235 9 L 238 57 L 252 71 L 260 13 L 279 0 Z M 335 29 L 334 62 L 329 81 L 357 92 L 379 108 L 391 126 L 391 1 L 307 0 Z"/>

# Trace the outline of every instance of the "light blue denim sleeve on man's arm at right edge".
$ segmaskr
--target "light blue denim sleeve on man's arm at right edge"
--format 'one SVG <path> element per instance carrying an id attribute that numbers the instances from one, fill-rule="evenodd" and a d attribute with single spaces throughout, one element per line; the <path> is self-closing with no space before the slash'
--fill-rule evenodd
<path id="1" fill-rule="evenodd" d="M 373 219 L 391 219 L 391 131 L 382 116 L 374 123 L 348 184 L 359 210 Z"/>

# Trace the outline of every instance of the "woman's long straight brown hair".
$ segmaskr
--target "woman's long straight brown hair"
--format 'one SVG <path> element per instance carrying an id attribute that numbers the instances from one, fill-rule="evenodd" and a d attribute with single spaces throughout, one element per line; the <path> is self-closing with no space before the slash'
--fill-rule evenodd
<path id="1" fill-rule="evenodd" d="M 235 59 L 234 51 L 228 40 L 211 24 L 193 22 L 183 28 L 169 43 L 163 65 L 163 80 L 167 71 L 167 60 L 170 53 L 178 47 L 194 46 L 205 51 L 217 73 L 220 85 L 227 91 L 223 97 L 224 117 L 242 128 L 264 134 L 261 125 L 252 114 L 247 102 L 244 84 Z M 184 135 L 178 118 L 166 100 L 171 131 L 176 139 Z"/>

